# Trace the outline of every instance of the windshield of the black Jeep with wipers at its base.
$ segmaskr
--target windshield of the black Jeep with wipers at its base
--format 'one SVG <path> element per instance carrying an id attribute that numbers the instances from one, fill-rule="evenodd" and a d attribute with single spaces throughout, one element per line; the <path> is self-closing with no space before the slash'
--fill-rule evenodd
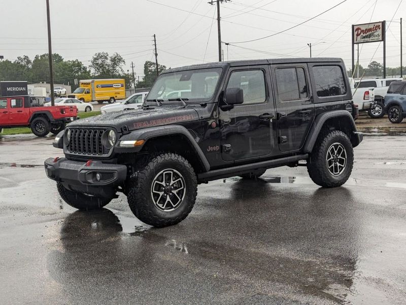
<path id="1" fill-rule="evenodd" d="M 222 69 L 199 69 L 161 74 L 152 86 L 147 101 L 185 99 L 208 102 L 213 97 Z"/>

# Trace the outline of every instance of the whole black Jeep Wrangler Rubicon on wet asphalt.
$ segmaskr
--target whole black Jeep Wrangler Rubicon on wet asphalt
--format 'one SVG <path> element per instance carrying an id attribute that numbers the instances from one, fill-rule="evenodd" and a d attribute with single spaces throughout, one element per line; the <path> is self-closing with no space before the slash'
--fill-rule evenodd
<path id="1" fill-rule="evenodd" d="M 343 185 L 362 141 L 357 115 L 340 58 L 170 69 L 140 109 L 67 126 L 53 144 L 65 158 L 47 159 L 45 171 L 75 208 L 101 208 L 122 192 L 136 217 L 164 227 L 186 218 L 210 180 L 306 165 L 317 185 Z"/>

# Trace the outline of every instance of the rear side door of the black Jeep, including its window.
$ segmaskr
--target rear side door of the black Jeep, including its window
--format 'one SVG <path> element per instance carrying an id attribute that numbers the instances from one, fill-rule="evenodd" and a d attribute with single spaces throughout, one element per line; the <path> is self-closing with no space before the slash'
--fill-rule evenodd
<path id="1" fill-rule="evenodd" d="M 300 149 L 315 118 L 307 64 L 271 66 L 278 118 L 278 143 L 283 152 Z"/>

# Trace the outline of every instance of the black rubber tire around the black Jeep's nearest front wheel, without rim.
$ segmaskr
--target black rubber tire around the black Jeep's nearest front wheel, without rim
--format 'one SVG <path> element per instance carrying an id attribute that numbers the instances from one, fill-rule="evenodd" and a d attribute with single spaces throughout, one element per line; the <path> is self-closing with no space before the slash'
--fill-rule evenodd
<path id="1" fill-rule="evenodd" d="M 133 214 L 154 227 L 171 226 L 184 220 L 192 210 L 197 195 L 197 178 L 190 163 L 173 153 L 158 153 L 146 157 L 136 166 L 138 170 L 126 186 L 128 205 Z M 152 184 L 157 175 L 166 169 L 178 171 L 184 179 L 183 199 L 172 211 L 159 209 L 153 201 Z"/>

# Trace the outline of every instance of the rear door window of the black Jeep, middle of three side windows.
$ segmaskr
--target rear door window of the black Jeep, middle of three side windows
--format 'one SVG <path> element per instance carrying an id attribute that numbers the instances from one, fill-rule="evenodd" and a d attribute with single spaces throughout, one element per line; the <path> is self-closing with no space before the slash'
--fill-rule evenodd
<path id="1" fill-rule="evenodd" d="M 281 68 L 277 69 L 275 74 L 281 102 L 297 101 L 308 97 L 306 75 L 303 68 Z"/>

